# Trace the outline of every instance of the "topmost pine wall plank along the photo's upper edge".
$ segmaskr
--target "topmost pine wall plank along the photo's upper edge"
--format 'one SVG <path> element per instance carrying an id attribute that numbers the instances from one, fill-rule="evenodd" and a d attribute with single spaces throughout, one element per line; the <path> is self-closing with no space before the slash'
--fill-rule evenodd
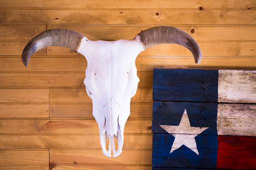
<path id="1" fill-rule="evenodd" d="M 43 0 L 34 2 L 31 0 L 2 0 L 0 3 L 0 7 L 2 8 L 40 8 L 40 9 L 198 9 L 199 6 L 206 7 L 207 9 L 249 9 L 255 8 L 256 4 L 254 1 L 249 0 L 226 0 L 226 1 L 214 1 L 209 2 L 207 0 L 203 1 L 186 1 L 186 0 L 175 0 L 175 1 L 146 1 L 141 2 L 139 0 L 133 1 L 90 1 L 90 2 L 83 2 L 79 0 L 70 1 L 62 1 L 59 3 L 58 1 L 50 1 L 45 2 Z"/>

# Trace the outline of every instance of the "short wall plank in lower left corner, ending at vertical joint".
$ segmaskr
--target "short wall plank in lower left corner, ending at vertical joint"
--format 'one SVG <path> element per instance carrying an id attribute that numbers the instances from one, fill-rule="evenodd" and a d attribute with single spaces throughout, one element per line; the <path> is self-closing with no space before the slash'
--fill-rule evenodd
<path id="1" fill-rule="evenodd" d="M 0 150 L 1 165 L 47 165 L 49 150 Z"/>

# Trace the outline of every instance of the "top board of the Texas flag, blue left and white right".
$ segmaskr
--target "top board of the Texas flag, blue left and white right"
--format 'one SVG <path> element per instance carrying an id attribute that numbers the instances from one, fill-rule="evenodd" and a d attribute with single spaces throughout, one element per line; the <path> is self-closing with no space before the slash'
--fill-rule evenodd
<path id="1" fill-rule="evenodd" d="M 255 71 L 156 68 L 153 100 L 255 103 L 255 80 Z"/>

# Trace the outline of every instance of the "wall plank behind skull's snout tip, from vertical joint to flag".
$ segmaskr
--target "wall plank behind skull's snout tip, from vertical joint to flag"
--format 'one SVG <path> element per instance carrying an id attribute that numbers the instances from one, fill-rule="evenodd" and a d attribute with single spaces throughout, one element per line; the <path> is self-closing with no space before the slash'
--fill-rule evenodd
<path id="1" fill-rule="evenodd" d="M 107 157 L 102 150 L 50 150 L 50 164 L 151 164 L 151 150 L 123 150 Z"/>

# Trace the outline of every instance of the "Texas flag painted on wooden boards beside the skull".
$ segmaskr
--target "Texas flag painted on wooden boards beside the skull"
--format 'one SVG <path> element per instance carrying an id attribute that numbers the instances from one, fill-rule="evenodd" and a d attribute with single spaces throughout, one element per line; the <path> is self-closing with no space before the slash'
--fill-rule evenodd
<path id="1" fill-rule="evenodd" d="M 153 169 L 256 169 L 256 72 L 154 69 Z"/>

